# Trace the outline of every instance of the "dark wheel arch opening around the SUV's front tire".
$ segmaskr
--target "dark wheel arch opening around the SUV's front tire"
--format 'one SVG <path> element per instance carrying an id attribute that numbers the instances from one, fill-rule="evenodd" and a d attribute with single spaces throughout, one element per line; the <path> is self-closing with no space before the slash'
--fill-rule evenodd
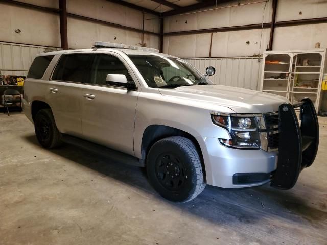
<path id="1" fill-rule="evenodd" d="M 198 140 L 190 133 L 183 131 L 178 128 L 166 126 L 166 125 L 149 125 L 143 132 L 142 136 L 142 143 L 141 143 L 141 154 L 142 154 L 142 161 L 144 164 L 146 163 L 146 157 L 147 154 L 151 148 L 151 146 L 157 142 L 160 139 L 164 139 L 171 136 L 182 136 L 185 138 L 190 139 L 196 146 L 196 149 L 199 153 L 200 159 L 201 159 L 201 165 L 203 170 L 203 177 L 206 180 L 206 174 L 205 174 L 205 165 L 204 165 L 204 159 L 203 154 L 201 150 L 201 146 L 198 142 Z"/>

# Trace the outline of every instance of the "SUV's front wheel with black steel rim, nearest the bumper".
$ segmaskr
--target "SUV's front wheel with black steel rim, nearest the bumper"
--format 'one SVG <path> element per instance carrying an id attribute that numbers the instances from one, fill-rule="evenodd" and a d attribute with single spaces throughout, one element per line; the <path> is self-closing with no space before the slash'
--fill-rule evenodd
<path id="1" fill-rule="evenodd" d="M 147 155 L 147 172 L 154 189 L 173 202 L 185 203 L 194 199 L 206 184 L 196 146 L 180 136 L 153 144 Z"/>

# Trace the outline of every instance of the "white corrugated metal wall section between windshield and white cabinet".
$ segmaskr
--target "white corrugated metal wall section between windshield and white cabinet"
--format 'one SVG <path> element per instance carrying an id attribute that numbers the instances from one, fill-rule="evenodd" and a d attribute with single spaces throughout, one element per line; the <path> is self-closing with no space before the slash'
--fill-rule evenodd
<path id="1" fill-rule="evenodd" d="M 216 74 L 210 77 L 215 84 L 260 90 L 262 58 L 196 58 L 184 59 L 205 74 L 205 68 L 213 66 Z"/>

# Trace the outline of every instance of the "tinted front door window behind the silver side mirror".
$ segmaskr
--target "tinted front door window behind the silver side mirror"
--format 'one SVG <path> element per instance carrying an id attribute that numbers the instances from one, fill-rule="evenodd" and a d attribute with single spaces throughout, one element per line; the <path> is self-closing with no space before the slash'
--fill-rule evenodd
<path id="1" fill-rule="evenodd" d="M 132 78 L 122 61 L 112 55 L 96 55 L 91 70 L 91 84 L 108 85 L 108 74 L 124 74 L 128 81 Z"/>

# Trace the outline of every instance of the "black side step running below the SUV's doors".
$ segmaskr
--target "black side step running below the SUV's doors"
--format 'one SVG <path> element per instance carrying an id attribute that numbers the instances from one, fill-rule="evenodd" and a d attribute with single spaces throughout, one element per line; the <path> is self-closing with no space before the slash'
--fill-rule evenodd
<path id="1" fill-rule="evenodd" d="M 62 135 L 62 141 L 113 161 L 118 161 L 137 167 L 144 167 L 143 161 L 139 161 L 138 158 L 130 156 L 126 153 L 112 150 L 100 144 L 92 143 L 67 134 Z"/>

